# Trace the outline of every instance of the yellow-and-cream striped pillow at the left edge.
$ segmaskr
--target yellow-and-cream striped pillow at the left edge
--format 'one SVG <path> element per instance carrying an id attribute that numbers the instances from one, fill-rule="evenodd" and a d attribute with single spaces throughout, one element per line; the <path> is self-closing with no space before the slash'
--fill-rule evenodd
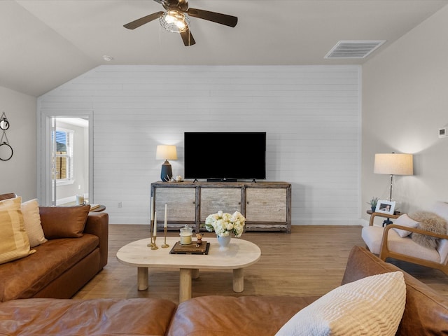
<path id="1" fill-rule="evenodd" d="M 0 201 L 0 264 L 36 252 L 29 251 L 21 203 L 21 197 Z"/>

